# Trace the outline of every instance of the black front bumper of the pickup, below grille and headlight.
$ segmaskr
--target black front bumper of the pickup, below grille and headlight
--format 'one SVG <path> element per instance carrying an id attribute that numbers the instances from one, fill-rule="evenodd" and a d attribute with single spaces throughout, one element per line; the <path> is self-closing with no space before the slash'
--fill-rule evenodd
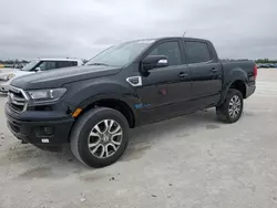
<path id="1" fill-rule="evenodd" d="M 32 112 L 29 118 L 24 115 L 21 119 L 20 114 L 11 110 L 8 103 L 4 112 L 8 127 L 20 141 L 40 146 L 60 146 L 69 143 L 70 131 L 74 123 L 74 118 L 70 115 L 61 116 L 55 112 L 48 112 L 49 116 L 45 116 L 45 112 Z"/>

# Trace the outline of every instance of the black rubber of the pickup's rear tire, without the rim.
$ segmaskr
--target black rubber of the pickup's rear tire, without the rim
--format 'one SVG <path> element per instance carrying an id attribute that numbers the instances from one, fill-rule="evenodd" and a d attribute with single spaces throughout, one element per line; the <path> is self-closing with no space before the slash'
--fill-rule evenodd
<path id="1" fill-rule="evenodd" d="M 234 96 L 238 96 L 238 98 L 240 101 L 240 107 L 239 107 L 239 113 L 236 116 L 232 117 L 229 114 L 229 104 L 230 104 L 230 101 Z M 225 97 L 224 103 L 220 106 L 216 107 L 217 118 L 222 122 L 225 122 L 225 123 L 229 123 L 229 124 L 235 123 L 242 116 L 243 110 L 244 110 L 243 94 L 235 89 L 229 89 L 227 92 L 227 95 Z"/>

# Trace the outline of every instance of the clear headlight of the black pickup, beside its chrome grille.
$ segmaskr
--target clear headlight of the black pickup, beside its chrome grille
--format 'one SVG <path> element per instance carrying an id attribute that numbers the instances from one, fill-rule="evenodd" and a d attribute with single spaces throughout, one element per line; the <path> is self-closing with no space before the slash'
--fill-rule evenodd
<path id="1" fill-rule="evenodd" d="M 66 92 L 66 89 L 48 89 L 48 90 L 35 90 L 28 91 L 32 103 L 48 103 L 60 100 Z"/>

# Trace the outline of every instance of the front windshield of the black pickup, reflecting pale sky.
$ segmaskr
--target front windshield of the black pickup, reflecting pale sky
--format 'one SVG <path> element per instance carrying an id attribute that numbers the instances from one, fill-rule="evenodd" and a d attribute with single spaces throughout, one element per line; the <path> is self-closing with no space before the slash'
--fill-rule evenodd
<path id="1" fill-rule="evenodd" d="M 134 61 L 155 40 L 140 40 L 121 43 L 92 58 L 85 65 L 123 66 Z"/>

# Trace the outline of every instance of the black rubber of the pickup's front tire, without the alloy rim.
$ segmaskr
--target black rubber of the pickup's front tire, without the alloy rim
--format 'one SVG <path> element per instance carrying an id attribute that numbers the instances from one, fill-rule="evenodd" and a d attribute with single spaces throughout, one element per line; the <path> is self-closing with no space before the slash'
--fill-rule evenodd
<path id="1" fill-rule="evenodd" d="M 98 158 L 91 154 L 88 139 L 91 129 L 103 119 L 113 119 L 120 124 L 123 137 L 117 150 L 107 158 Z M 74 124 L 70 146 L 74 156 L 84 165 L 90 167 L 104 167 L 115 163 L 124 153 L 129 143 L 129 123 L 119 111 L 107 107 L 93 108 L 83 114 Z"/>

